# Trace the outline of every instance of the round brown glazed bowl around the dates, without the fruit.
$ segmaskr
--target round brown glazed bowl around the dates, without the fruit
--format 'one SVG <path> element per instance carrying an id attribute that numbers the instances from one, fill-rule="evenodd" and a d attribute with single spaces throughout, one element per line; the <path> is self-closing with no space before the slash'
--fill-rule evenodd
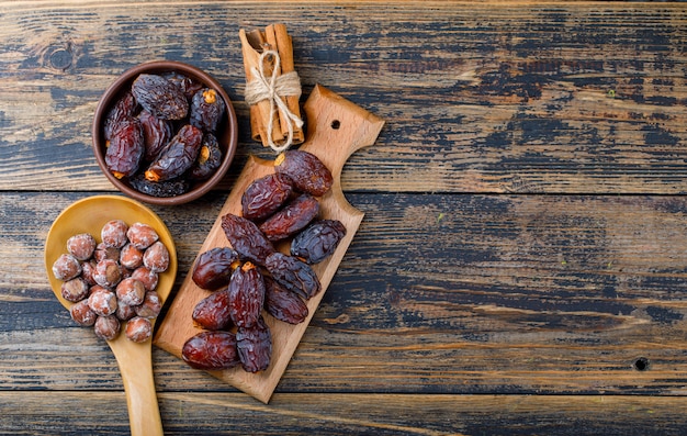
<path id="1" fill-rule="evenodd" d="M 116 177 L 114 177 L 114 175 L 112 175 L 112 172 L 108 170 L 108 166 L 105 165 L 106 147 L 105 138 L 103 135 L 104 120 L 110 109 L 127 90 L 131 90 L 133 81 L 142 72 L 182 74 L 193 80 L 203 83 L 207 88 L 213 88 L 224 99 L 226 105 L 224 120 L 219 123 L 216 132 L 217 142 L 219 143 L 219 147 L 222 147 L 223 152 L 223 158 L 219 168 L 217 168 L 217 170 L 209 179 L 200 182 L 194 182 L 189 191 L 176 197 L 153 197 L 139 192 L 126 181 L 126 178 L 117 179 Z M 122 74 L 122 76 L 120 76 L 101 97 L 98 107 L 95 108 L 95 115 L 93 116 L 91 133 L 93 138 L 93 153 L 95 155 L 95 158 L 98 159 L 98 165 L 100 166 L 100 169 L 103 171 L 105 177 L 112 182 L 112 185 L 114 185 L 120 191 L 124 192 L 131 198 L 146 203 L 160 205 L 183 204 L 189 201 L 196 200 L 198 198 L 207 193 L 224 178 L 226 171 L 229 169 L 238 142 L 236 112 L 234 111 L 234 107 L 232 105 L 229 97 L 222 88 L 219 82 L 217 82 L 209 74 L 196 67 L 172 60 L 155 60 L 140 64 Z"/>

